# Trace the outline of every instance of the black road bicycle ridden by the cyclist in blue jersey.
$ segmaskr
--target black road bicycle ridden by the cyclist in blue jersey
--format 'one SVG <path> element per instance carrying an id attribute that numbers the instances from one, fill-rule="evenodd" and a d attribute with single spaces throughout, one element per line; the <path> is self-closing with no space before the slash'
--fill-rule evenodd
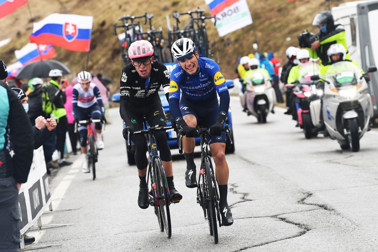
<path id="1" fill-rule="evenodd" d="M 201 169 L 197 183 L 197 203 L 202 207 L 204 217 L 208 220 L 210 235 L 214 236 L 214 243 L 217 244 L 218 224 L 219 227 L 221 227 L 222 222 L 220 219 L 218 205 L 218 185 L 217 181 L 215 180 L 215 173 L 209 156 L 208 140 L 206 139 L 206 134 L 209 134 L 209 129 L 200 128 L 199 126 L 197 126 L 197 131 L 201 138 Z M 225 127 L 222 129 L 222 131 L 226 132 L 226 148 L 231 148 L 232 136 L 231 131 L 228 128 L 228 124 L 225 124 Z M 180 154 L 183 153 L 182 138 L 182 130 L 180 129 L 177 133 L 177 141 Z"/>

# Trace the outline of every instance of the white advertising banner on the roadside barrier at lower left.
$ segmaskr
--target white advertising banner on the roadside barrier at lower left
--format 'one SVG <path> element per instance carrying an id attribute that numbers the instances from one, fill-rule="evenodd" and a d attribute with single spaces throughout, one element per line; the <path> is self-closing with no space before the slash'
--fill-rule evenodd
<path id="1" fill-rule="evenodd" d="M 50 205 L 50 187 L 47 178 L 43 147 L 34 150 L 28 181 L 21 185 L 19 191 L 20 233 L 25 233 Z"/>

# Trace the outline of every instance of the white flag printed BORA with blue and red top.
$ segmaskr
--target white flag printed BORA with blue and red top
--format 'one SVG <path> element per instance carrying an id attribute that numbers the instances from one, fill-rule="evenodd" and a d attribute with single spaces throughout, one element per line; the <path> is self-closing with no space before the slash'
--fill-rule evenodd
<path id="1" fill-rule="evenodd" d="M 205 0 L 210 12 L 217 20 L 219 36 L 223 37 L 232 31 L 239 30 L 253 23 L 246 0 Z"/>

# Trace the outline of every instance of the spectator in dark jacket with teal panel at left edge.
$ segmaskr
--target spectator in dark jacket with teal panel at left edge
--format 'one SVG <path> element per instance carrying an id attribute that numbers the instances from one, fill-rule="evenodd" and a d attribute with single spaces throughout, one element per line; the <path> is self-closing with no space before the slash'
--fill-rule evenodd
<path id="1" fill-rule="evenodd" d="M 6 84 L 0 61 L 0 251 L 17 252 L 20 244 L 18 194 L 33 160 L 31 123 L 17 95 Z M 14 155 L 10 155 L 10 140 Z"/>

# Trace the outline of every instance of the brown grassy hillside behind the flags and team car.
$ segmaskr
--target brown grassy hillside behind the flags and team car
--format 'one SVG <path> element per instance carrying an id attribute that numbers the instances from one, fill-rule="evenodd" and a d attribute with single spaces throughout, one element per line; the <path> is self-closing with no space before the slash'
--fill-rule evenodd
<path id="1" fill-rule="evenodd" d="M 297 34 L 306 28 L 317 32 L 318 29 L 314 29 L 311 25 L 313 17 L 319 11 L 327 9 L 325 0 L 297 0 L 295 2 L 247 0 L 247 2 L 256 28 L 260 50 L 274 51 L 276 56 L 283 61 L 285 61 L 286 48 L 291 45 L 297 46 Z M 331 6 L 337 6 L 342 2 L 347 1 L 331 0 Z M 118 38 L 113 34 L 113 23 L 118 23 L 118 17 L 123 14 L 141 15 L 146 11 L 153 13 L 155 14 L 153 25 L 155 28 L 162 26 L 166 36 L 166 15 L 170 16 L 175 10 L 183 12 L 194 10 L 199 6 L 205 9 L 206 14 L 209 15 L 209 8 L 204 0 L 144 1 L 143 3 L 132 0 L 30 0 L 29 3 L 36 22 L 54 12 L 94 17 L 89 70 L 95 73 L 105 73 L 114 78 L 113 89 L 117 89 L 122 68 Z M 28 7 L 22 6 L 1 21 L 0 40 L 11 37 L 12 41 L 0 48 L 0 59 L 4 60 L 6 64 L 11 64 L 16 60 L 14 50 L 18 50 L 28 43 L 28 36 L 32 31 Z M 173 22 L 174 20 L 171 19 L 171 23 Z M 226 78 L 234 78 L 237 58 L 255 52 L 252 48 L 254 43 L 253 27 L 249 25 L 224 37 L 218 36 L 210 21 L 207 27 L 210 42 L 216 42 L 213 48 L 214 59 L 220 61 L 220 68 Z M 287 37 L 291 37 L 291 41 L 287 41 Z M 68 78 L 72 78 L 82 69 L 87 54 L 59 47 L 55 49 L 57 51 L 56 59 L 71 68 L 72 74 Z"/>

